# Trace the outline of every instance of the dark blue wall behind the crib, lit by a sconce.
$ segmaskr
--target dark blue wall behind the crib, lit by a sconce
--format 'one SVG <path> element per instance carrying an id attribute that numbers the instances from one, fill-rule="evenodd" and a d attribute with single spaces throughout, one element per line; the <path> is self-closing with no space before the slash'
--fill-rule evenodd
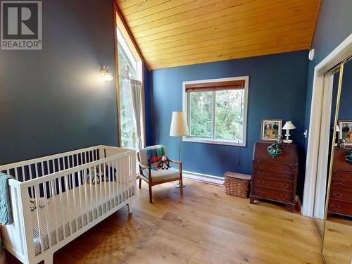
<path id="1" fill-rule="evenodd" d="M 43 50 L 0 51 L 0 164 L 117 145 L 113 0 L 43 1 Z M 92 21 L 92 23 L 89 23 Z"/>

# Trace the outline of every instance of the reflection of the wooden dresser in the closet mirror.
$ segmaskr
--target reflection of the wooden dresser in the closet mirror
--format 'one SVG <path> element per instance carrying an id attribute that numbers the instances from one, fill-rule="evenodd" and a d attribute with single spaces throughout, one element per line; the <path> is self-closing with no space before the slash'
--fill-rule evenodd
<path id="1" fill-rule="evenodd" d="M 335 147 L 328 213 L 352 216 L 352 165 L 345 161 L 349 150 Z"/>

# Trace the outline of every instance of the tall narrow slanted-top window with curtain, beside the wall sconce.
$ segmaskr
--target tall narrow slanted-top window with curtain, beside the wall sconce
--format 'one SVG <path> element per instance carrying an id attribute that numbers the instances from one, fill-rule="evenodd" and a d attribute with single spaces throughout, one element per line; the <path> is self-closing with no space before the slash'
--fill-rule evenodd
<path id="1" fill-rule="evenodd" d="M 142 59 L 118 13 L 116 22 L 120 146 L 141 149 L 144 146 Z"/>

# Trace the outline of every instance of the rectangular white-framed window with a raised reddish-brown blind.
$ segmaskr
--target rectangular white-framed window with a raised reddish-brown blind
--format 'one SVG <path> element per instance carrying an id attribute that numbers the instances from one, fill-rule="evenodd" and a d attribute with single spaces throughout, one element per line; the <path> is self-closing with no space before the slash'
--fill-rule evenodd
<path id="1" fill-rule="evenodd" d="M 246 146 L 248 76 L 183 82 L 184 141 Z"/>

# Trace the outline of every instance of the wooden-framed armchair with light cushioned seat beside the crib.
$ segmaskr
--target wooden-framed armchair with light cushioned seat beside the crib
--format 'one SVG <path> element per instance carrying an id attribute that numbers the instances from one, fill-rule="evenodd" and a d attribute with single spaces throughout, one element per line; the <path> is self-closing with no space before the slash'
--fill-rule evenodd
<path id="1" fill-rule="evenodd" d="M 165 148 L 166 154 L 166 148 Z M 182 162 L 170 160 L 171 163 L 178 164 L 178 170 L 169 168 L 168 170 L 151 170 L 148 162 L 148 154 L 146 149 L 140 149 L 137 152 L 137 160 L 139 165 L 139 189 L 141 189 L 142 180 L 149 185 L 149 202 L 153 203 L 153 194 L 151 187 L 154 185 L 162 184 L 165 182 L 174 182 L 179 180 L 181 187 L 180 193 L 182 194 Z"/>

